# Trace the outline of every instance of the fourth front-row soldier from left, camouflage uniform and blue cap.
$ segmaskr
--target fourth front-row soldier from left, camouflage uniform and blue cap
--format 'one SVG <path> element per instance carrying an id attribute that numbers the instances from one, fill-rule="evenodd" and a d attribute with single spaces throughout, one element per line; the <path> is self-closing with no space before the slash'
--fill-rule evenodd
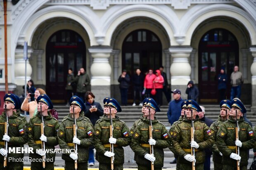
<path id="1" fill-rule="evenodd" d="M 113 122 L 113 137 L 110 136 L 110 111 Z M 130 130 L 126 126 L 125 122 L 121 121 L 117 112 L 121 112 L 122 109 L 119 103 L 114 98 L 109 98 L 104 103 L 104 114 L 94 127 L 95 140 L 94 145 L 96 149 L 96 160 L 99 161 L 99 170 L 111 169 L 111 157 L 114 156 L 114 170 L 123 170 L 124 163 L 124 151 L 123 147 L 130 144 Z M 110 152 L 110 146 L 114 144 L 114 153 Z"/>

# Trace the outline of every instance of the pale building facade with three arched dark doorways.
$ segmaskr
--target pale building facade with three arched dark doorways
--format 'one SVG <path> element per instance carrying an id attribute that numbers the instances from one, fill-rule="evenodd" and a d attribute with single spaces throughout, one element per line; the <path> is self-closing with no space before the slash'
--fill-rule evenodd
<path id="1" fill-rule="evenodd" d="M 1 2 L 0 89 L 4 92 L 4 17 Z M 256 107 L 256 0 L 12 0 L 7 5 L 9 91 L 22 93 L 26 76 L 64 102 L 66 75 L 85 68 L 102 101 L 119 98 L 118 77 L 164 66 L 171 89 L 199 102 L 217 102 L 220 68 L 244 76 L 242 100 Z M 1 73 L 1 72 L 0 72 Z M 129 98 L 132 86 L 129 88 Z M 230 96 L 228 86 L 227 97 Z"/>

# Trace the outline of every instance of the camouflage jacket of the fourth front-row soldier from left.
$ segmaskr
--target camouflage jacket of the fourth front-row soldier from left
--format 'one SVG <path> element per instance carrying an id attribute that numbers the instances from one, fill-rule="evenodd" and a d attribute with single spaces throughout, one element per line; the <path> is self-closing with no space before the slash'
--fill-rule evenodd
<path id="1" fill-rule="evenodd" d="M 118 116 L 112 119 L 113 122 L 113 137 L 116 138 L 116 144 L 114 144 L 114 164 L 124 163 L 124 151 L 123 147 L 130 144 L 131 134 L 128 126 L 124 121 L 121 121 Z M 110 158 L 104 156 L 106 151 L 110 151 L 109 144 L 109 126 L 110 121 L 107 116 L 104 116 L 95 124 L 95 139 L 94 146 L 96 149 L 96 159 L 100 163 L 110 164 Z"/>

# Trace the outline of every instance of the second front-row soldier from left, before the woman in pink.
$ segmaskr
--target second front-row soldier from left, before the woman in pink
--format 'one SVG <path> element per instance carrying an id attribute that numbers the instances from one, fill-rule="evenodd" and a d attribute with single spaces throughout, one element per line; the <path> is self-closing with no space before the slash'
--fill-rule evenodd
<path id="1" fill-rule="evenodd" d="M 52 159 L 45 161 L 45 168 L 42 162 L 31 162 L 31 170 L 54 170 L 55 153 L 43 153 L 36 149 L 42 149 L 42 142 L 45 142 L 45 149 L 55 149 L 58 144 L 57 130 L 59 129 L 59 122 L 55 117 L 52 117 L 48 109 L 52 109 L 53 105 L 50 98 L 46 95 L 40 95 L 37 98 L 37 114 L 28 122 L 28 146 L 33 148 L 34 153 L 30 153 L 31 158 L 47 158 Z M 42 109 L 41 109 L 42 108 Z M 44 135 L 41 135 L 42 116 L 44 120 Z"/>

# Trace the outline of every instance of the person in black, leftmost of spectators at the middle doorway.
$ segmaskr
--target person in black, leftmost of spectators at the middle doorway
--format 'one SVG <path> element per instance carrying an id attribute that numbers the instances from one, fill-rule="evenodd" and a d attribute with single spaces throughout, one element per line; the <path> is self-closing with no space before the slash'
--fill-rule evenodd
<path id="1" fill-rule="evenodd" d="M 127 98 L 128 98 L 128 88 L 130 83 L 130 76 L 127 75 L 127 71 L 123 70 L 122 74 L 118 78 L 118 82 L 120 83 L 120 93 L 121 93 L 121 103 L 124 106 L 127 106 Z"/>

